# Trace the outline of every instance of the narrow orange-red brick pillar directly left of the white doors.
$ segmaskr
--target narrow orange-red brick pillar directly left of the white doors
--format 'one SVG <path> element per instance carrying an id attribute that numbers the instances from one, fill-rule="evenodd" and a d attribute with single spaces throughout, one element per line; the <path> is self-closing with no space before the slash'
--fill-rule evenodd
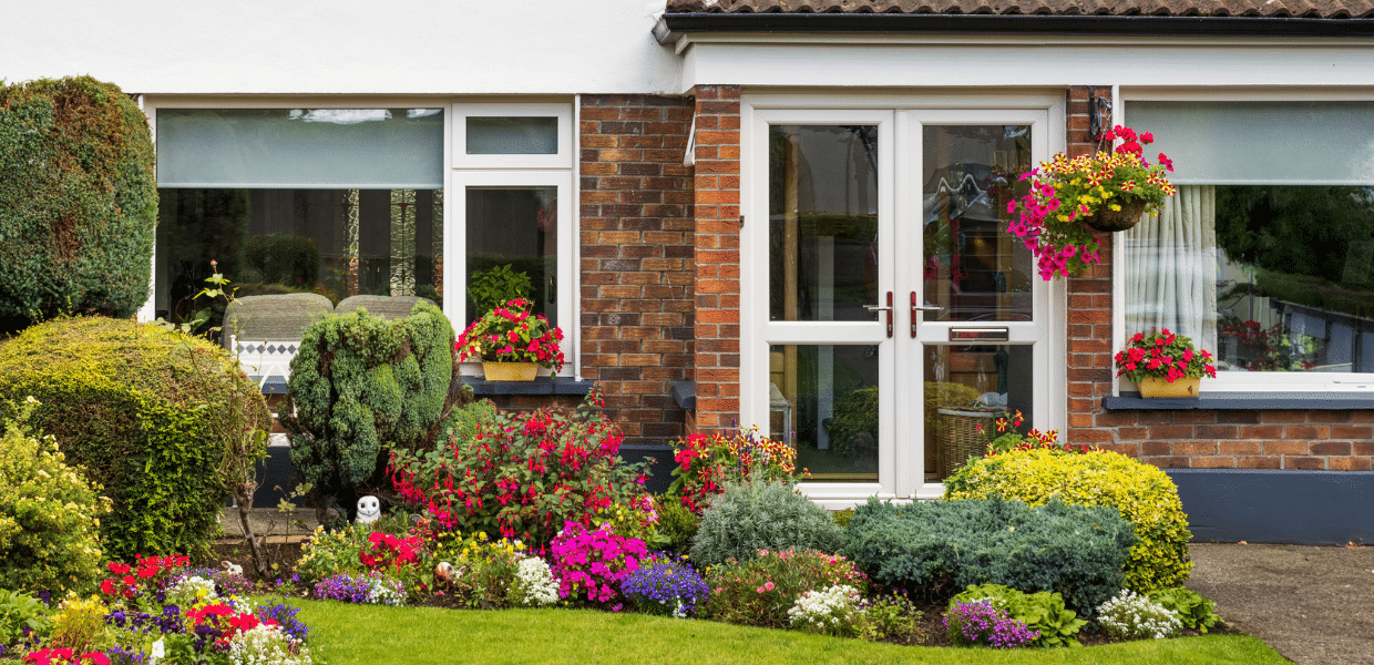
<path id="1" fill-rule="evenodd" d="M 697 93 L 697 426 L 739 420 L 739 88 Z"/>

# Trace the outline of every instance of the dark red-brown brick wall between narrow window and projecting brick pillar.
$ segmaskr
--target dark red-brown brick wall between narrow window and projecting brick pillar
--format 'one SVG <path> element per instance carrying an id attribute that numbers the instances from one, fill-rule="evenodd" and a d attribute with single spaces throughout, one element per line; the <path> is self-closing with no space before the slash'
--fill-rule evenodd
<path id="1" fill-rule="evenodd" d="M 669 389 L 694 352 L 692 100 L 581 99 L 581 372 L 625 442 L 666 444 L 683 429 Z"/>

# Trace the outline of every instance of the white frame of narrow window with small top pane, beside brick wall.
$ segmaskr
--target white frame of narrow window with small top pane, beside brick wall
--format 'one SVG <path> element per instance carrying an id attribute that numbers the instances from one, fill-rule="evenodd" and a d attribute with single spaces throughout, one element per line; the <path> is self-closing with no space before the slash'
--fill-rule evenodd
<path id="1" fill-rule="evenodd" d="M 558 376 L 580 376 L 577 349 L 580 338 L 577 301 L 580 271 L 577 268 L 578 196 L 576 142 L 576 109 L 578 99 L 569 102 L 500 103 L 458 102 L 449 107 L 451 131 L 447 150 L 445 205 L 444 205 L 444 312 L 462 332 L 474 319 L 467 312 L 467 187 L 555 187 L 558 190 L 558 324 L 563 330 L 563 370 Z M 556 154 L 467 154 L 467 118 L 470 117 L 556 117 Z M 481 375 L 481 363 L 463 363 L 464 375 Z"/>

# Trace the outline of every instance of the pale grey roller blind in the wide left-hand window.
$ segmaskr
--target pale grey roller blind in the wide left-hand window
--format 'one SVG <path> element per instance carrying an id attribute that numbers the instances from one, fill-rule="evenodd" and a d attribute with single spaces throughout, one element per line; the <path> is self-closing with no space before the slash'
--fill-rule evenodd
<path id="1" fill-rule="evenodd" d="M 162 109 L 158 185 L 437 190 L 440 109 Z"/>

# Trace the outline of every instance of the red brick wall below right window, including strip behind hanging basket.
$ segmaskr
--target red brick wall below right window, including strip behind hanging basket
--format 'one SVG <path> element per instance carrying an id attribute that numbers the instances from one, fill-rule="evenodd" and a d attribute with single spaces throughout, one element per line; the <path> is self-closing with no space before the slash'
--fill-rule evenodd
<path id="1" fill-rule="evenodd" d="M 1092 150 L 1088 89 L 1069 89 L 1068 148 Z M 1107 87 L 1095 88 L 1110 95 Z M 1105 125 L 1106 120 L 1103 121 Z M 1107 125 L 1110 126 L 1110 125 Z M 1149 129 L 1149 128 L 1136 128 Z M 1160 467 L 1370 470 L 1374 411 L 1106 411 L 1112 394 L 1112 234 L 1103 264 L 1069 280 L 1068 440 Z"/>

